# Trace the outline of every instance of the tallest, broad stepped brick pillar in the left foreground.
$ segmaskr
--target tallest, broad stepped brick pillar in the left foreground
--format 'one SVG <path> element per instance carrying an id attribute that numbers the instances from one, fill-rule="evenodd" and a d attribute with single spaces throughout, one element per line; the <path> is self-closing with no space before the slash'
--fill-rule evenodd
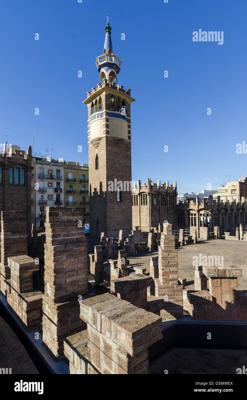
<path id="1" fill-rule="evenodd" d="M 64 357 L 63 339 L 83 329 L 78 300 L 87 293 L 87 242 L 82 219 L 83 208 L 46 209 L 43 345 L 56 360 Z"/>

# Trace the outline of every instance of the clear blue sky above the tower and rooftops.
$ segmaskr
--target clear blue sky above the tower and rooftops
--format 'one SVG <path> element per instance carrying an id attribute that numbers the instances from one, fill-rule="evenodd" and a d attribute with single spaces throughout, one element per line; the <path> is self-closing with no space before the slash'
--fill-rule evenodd
<path id="1" fill-rule="evenodd" d="M 0 142 L 26 150 L 36 128 L 34 151 L 88 163 L 82 102 L 99 82 L 107 12 L 119 84 L 136 99 L 132 180 L 197 192 L 247 174 L 246 0 L 2 0 Z M 223 31 L 223 45 L 193 42 L 199 29 Z"/>

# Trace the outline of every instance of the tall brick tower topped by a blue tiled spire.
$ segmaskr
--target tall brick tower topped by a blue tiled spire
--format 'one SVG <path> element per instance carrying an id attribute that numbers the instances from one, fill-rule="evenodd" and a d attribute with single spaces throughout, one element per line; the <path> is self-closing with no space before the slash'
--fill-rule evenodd
<path id="1" fill-rule="evenodd" d="M 105 26 L 99 84 L 87 92 L 90 236 L 118 237 L 132 229 L 130 89 L 119 86 L 122 61 L 113 54 L 111 26 Z"/>

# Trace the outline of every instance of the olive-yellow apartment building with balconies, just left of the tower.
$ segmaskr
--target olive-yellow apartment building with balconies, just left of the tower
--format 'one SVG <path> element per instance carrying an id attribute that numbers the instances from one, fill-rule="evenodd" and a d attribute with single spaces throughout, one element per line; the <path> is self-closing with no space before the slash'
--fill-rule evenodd
<path id="1" fill-rule="evenodd" d="M 83 222 L 89 223 L 88 165 L 78 162 L 64 163 L 65 206 L 83 207 Z"/>

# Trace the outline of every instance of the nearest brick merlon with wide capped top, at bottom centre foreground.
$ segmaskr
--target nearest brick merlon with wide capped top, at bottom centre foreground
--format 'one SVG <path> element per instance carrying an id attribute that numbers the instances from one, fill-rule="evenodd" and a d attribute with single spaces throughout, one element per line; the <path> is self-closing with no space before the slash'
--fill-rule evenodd
<path id="1" fill-rule="evenodd" d="M 89 374 L 147 374 L 148 347 L 162 338 L 161 318 L 112 294 L 80 302 L 87 322 Z"/>

